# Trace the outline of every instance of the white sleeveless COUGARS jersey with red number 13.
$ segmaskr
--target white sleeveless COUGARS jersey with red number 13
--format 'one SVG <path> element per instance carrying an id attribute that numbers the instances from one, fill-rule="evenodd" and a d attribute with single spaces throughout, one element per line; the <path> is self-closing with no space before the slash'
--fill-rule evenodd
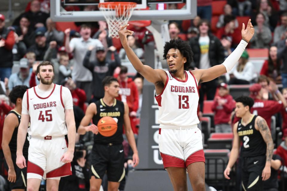
<path id="1" fill-rule="evenodd" d="M 184 71 L 185 80 L 179 80 L 166 71 L 164 89 L 155 99 L 158 102 L 158 122 L 161 128 L 178 129 L 197 125 L 199 91 L 197 80 Z"/>

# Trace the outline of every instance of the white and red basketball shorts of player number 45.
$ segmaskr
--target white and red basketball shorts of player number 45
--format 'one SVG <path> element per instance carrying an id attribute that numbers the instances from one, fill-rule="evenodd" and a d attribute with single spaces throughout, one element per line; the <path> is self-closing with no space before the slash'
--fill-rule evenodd
<path id="1" fill-rule="evenodd" d="M 51 178 L 72 174 L 71 163 L 60 161 L 68 150 L 65 137 L 32 137 L 28 150 L 27 178 Z"/>

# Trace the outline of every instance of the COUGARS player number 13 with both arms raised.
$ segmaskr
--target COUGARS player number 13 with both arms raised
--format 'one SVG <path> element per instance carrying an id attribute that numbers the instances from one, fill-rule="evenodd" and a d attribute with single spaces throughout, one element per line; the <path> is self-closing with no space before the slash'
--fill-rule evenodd
<path id="1" fill-rule="evenodd" d="M 242 40 L 233 53 L 220 64 L 204 70 L 186 71 L 192 62 L 192 50 L 188 42 L 172 39 L 164 46 L 164 59 L 169 71 L 152 69 L 144 65 L 127 43 L 126 36 L 133 31 L 119 30 L 120 41 L 133 67 L 155 84 L 160 123 L 159 150 L 175 191 L 187 190 L 186 169 L 194 191 L 205 190 L 204 153 L 201 131 L 197 128 L 198 82 L 213 80 L 230 71 L 254 34 L 249 19 L 242 24 Z"/>

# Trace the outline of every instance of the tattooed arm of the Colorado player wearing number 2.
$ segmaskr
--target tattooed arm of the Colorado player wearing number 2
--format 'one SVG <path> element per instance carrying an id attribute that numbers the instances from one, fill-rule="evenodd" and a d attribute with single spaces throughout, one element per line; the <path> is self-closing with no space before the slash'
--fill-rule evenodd
<path id="1" fill-rule="evenodd" d="M 274 144 L 271 137 L 271 132 L 269 130 L 269 127 L 262 117 L 258 116 L 255 120 L 255 129 L 259 130 L 259 132 L 262 135 L 262 138 L 264 139 L 267 149 L 266 149 L 266 163 L 265 167 L 262 171 L 262 180 L 267 180 L 271 175 L 271 160 L 273 155 L 273 149 Z"/>

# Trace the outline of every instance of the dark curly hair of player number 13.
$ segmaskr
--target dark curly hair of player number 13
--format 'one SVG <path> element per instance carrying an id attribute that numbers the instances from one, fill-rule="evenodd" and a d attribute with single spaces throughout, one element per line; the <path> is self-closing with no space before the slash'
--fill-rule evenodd
<path id="1" fill-rule="evenodd" d="M 182 56 L 186 58 L 186 62 L 184 63 L 184 70 L 188 70 L 188 67 L 193 61 L 193 52 L 188 42 L 181 39 L 171 39 L 169 42 L 166 42 L 164 45 L 163 55 L 165 60 L 167 59 L 167 52 L 172 48 L 178 49 Z"/>

